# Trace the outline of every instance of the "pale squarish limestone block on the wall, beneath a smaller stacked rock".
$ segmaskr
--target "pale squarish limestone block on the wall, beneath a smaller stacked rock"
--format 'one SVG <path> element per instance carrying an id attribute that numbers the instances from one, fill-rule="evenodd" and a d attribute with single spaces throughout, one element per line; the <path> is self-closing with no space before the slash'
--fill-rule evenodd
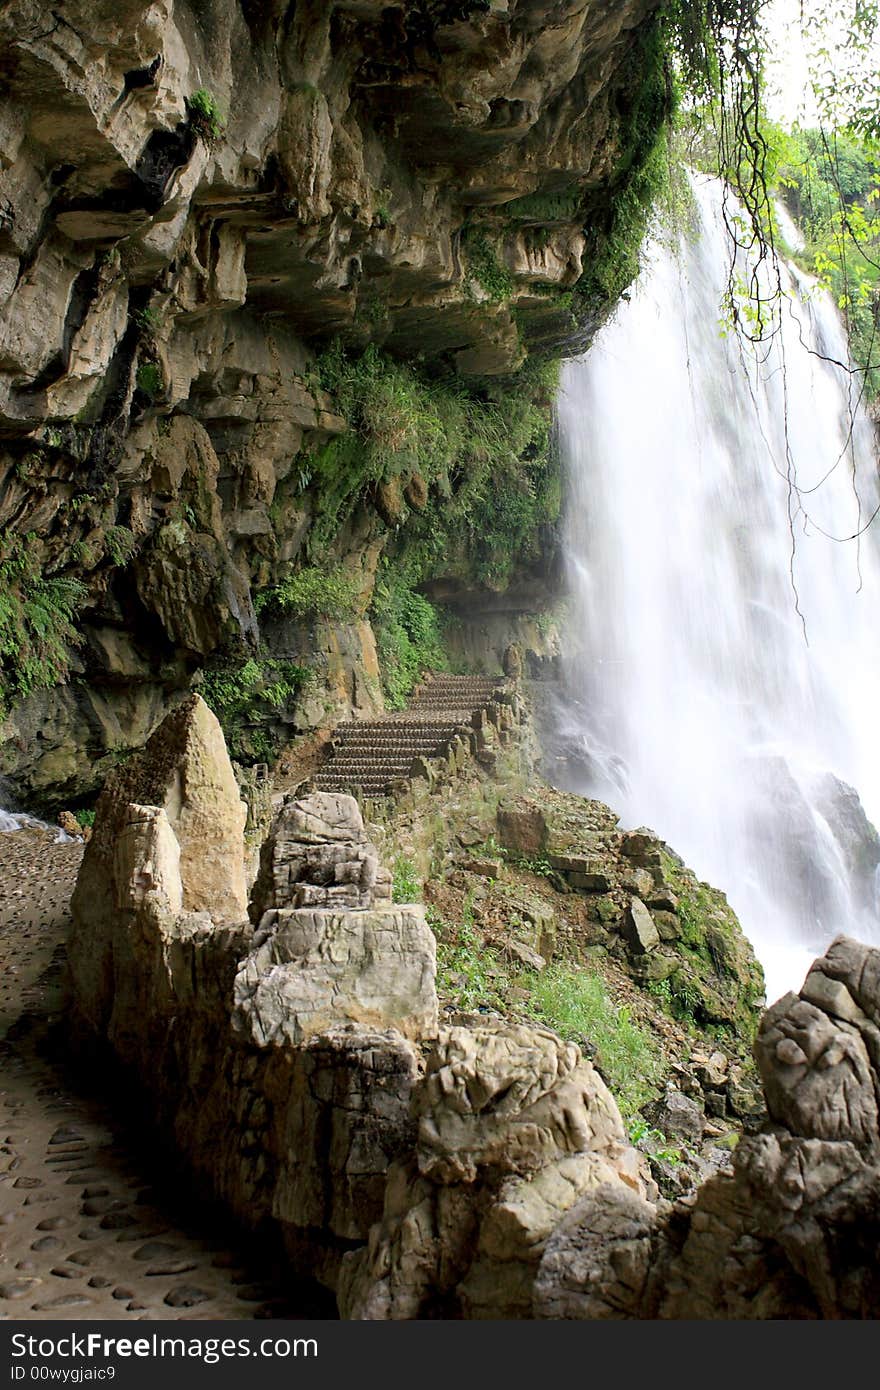
<path id="1" fill-rule="evenodd" d="M 418 906 L 272 909 L 235 977 L 238 1029 L 259 1047 L 335 1023 L 437 1034 L 437 942 Z"/>

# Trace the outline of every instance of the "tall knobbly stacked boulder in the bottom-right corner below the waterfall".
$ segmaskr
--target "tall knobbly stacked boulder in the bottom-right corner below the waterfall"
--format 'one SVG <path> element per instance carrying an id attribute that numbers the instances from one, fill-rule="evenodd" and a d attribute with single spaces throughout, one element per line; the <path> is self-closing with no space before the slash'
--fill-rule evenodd
<path id="1" fill-rule="evenodd" d="M 755 1055 L 770 1123 L 699 1190 L 642 1316 L 876 1318 L 880 951 L 838 937 Z"/>

